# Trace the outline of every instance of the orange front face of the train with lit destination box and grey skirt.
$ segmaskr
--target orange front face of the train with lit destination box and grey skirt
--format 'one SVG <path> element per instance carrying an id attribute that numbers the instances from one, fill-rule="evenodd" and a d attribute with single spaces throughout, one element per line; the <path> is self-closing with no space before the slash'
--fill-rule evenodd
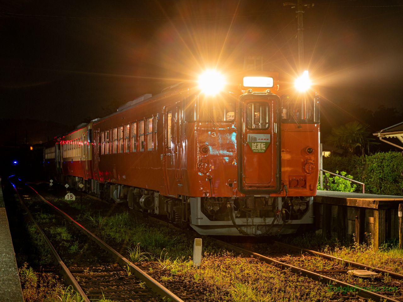
<path id="1" fill-rule="evenodd" d="M 235 78 L 221 93 L 229 122 L 195 127 L 203 196 L 190 198 L 191 226 L 205 235 L 295 233 L 314 223 L 319 97 L 281 95 L 276 72 Z"/>

